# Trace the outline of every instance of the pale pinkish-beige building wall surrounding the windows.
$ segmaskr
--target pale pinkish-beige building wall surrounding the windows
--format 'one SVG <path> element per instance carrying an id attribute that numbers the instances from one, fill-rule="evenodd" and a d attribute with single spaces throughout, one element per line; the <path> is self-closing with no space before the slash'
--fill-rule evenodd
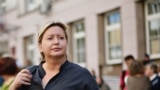
<path id="1" fill-rule="evenodd" d="M 123 57 L 132 54 L 137 58 L 139 56 L 138 42 L 141 41 L 137 41 L 137 35 L 139 35 L 137 34 L 137 31 L 142 28 L 138 28 L 136 24 L 138 22 L 137 8 L 134 0 L 59 0 L 56 3 L 53 3 L 52 12 L 49 15 L 41 15 L 38 10 L 35 10 L 26 15 L 19 16 L 18 9 L 15 9 L 8 12 L 5 15 L 5 18 L 7 23 L 20 27 L 17 35 L 18 39 L 16 41 L 16 57 L 21 62 L 24 61 L 23 38 L 31 34 L 36 36 L 39 26 L 44 22 L 48 20 L 58 20 L 65 23 L 72 23 L 76 20 L 84 19 L 86 30 L 87 68 L 89 70 L 94 69 L 97 75 L 99 75 L 100 65 L 103 66 L 102 71 L 104 74 L 113 72 L 115 68 L 118 73 L 120 72 L 121 64 L 106 66 L 104 56 L 105 48 L 103 43 L 104 37 L 99 37 L 103 34 L 100 32 L 103 29 L 103 25 L 100 24 L 102 21 L 98 18 L 98 16 L 117 8 L 120 9 L 122 19 Z M 23 12 L 23 10 L 21 12 Z M 143 33 L 141 35 L 143 35 Z M 102 41 L 99 42 L 99 40 Z M 35 44 L 35 48 L 36 47 L 37 44 Z M 35 64 L 38 64 L 40 57 L 38 49 L 35 49 L 35 54 L 34 62 Z M 113 75 L 117 75 L 118 73 Z"/>

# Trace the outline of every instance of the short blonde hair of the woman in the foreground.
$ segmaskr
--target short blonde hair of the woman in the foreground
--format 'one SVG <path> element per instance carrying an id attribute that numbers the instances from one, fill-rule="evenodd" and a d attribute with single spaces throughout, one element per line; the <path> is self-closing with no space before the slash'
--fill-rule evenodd
<path id="1" fill-rule="evenodd" d="M 38 33 L 38 43 L 39 44 L 42 42 L 43 35 L 46 32 L 46 30 L 49 29 L 50 27 L 54 27 L 54 26 L 58 26 L 58 27 L 62 28 L 62 30 L 64 31 L 64 34 L 65 34 L 65 38 L 68 42 L 68 36 L 67 36 L 67 31 L 66 31 L 67 26 L 65 24 L 61 23 L 61 22 L 50 22 L 50 23 L 47 23 Z M 44 53 L 43 52 L 41 52 L 41 55 L 42 55 L 42 58 L 44 59 Z"/>

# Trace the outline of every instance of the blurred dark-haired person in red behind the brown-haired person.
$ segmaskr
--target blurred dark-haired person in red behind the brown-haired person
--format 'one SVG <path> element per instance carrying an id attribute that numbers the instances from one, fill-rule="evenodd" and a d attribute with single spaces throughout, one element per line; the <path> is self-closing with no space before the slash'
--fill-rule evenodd
<path id="1" fill-rule="evenodd" d="M 127 78 L 129 76 L 129 71 L 128 68 L 131 65 L 131 63 L 135 61 L 134 57 L 132 55 L 128 55 L 124 58 L 124 62 L 127 66 L 127 70 L 123 70 L 121 73 L 120 77 L 120 90 L 127 90 L 126 88 L 126 83 L 127 83 Z"/>

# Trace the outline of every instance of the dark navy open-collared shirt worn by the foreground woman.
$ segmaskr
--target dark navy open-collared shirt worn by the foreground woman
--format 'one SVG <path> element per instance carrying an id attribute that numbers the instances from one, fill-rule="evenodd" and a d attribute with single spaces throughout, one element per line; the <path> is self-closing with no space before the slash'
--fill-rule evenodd
<path id="1" fill-rule="evenodd" d="M 22 86 L 20 90 L 98 90 L 95 79 L 89 71 L 69 61 L 61 66 L 60 72 L 43 88 L 42 79 L 45 76 L 43 63 L 28 68 L 32 73 L 31 85 Z"/>

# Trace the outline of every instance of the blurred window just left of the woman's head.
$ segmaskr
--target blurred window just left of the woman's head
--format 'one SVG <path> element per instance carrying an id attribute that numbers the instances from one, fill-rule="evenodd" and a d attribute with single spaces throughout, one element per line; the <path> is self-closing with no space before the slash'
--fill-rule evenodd
<path id="1" fill-rule="evenodd" d="M 25 60 L 33 63 L 34 61 L 34 38 L 33 35 L 25 37 Z"/>

